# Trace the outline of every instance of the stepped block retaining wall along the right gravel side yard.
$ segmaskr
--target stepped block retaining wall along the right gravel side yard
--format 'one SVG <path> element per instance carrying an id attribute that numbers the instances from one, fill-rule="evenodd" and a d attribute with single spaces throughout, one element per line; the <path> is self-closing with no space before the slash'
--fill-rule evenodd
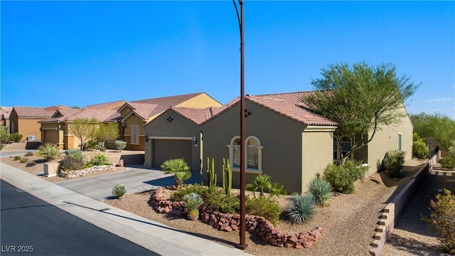
<path id="1" fill-rule="evenodd" d="M 395 224 L 400 219 L 400 216 L 405 211 L 407 204 L 411 201 L 417 188 L 422 186 L 422 183 L 427 179 L 429 173 L 433 169 L 433 161 L 429 160 L 427 164 L 422 166 L 406 184 L 404 188 L 397 194 L 390 203 L 382 210 L 380 215 L 379 225 L 376 228 L 374 240 L 371 243 L 370 255 L 378 256 L 385 245 L 385 241 L 395 228 Z"/>

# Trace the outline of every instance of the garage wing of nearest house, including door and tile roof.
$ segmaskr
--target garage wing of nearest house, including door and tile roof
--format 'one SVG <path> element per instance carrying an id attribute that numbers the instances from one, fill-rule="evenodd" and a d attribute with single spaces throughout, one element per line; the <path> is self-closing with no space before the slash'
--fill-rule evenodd
<path id="1" fill-rule="evenodd" d="M 170 107 L 144 126 L 144 166 L 160 168 L 168 159 L 185 159 L 200 172 L 203 144 L 199 125 L 223 107 Z"/>

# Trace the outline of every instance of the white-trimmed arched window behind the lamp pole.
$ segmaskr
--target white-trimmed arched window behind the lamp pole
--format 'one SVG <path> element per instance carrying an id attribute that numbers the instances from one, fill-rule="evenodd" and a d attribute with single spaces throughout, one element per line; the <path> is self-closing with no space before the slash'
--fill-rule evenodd
<path id="1" fill-rule="evenodd" d="M 262 148 L 261 142 L 255 136 L 245 140 L 245 165 L 246 171 L 251 173 L 262 172 Z M 229 161 L 233 171 L 240 170 L 240 136 L 232 137 L 229 148 Z"/>

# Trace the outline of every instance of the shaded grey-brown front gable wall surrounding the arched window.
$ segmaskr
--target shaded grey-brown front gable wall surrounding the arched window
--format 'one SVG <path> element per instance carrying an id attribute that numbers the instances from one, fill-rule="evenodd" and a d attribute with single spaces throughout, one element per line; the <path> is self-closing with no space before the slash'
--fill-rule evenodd
<path id="1" fill-rule="evenodd" d="M 302 187 L 302 142 L 311 142 L 311 136 L 302 139 L 304 125 L 287 117 L 245 102 L 251 112 L 245 118 L 245 136 L 257 137 L 262 146 L 262 171 L 271 176 L 272 182 L 281 183 L 288 193 L 301 192 Z M 228 144 L 232 137 L 240 135 L 240 105 L 236 105 L 219 117 L 201 127 L 203 133 L 203 165 L 206 158 L 215 159 L 215 172 L 221 176 L 223 158 L 229 158 Z M 332 142 L 329 143 L 329 147 Z M 332 151 L 329 151 L 332 154 Z M 312 159 L 314 161 L 314 159 Z M 203 178 L 206 176 L 205 167 Z M 311 175 L 311 174 L 310 174 Z M 246 183 L 251 183 L 257 174 L 246 174 Z M 219 180 L 220 181 L 220 180 Z M 232 174 L 233 186 L 240 183 L 240 173 Z"/>

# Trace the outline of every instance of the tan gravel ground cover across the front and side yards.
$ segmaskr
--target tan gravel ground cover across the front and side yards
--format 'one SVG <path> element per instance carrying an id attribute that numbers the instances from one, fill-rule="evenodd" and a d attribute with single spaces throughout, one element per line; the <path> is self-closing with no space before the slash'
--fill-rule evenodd
<path id="1" fill-rule="evenodd" d="M 16 147 L 20 147 L 21 145 Z M 22 148 L 23 149 L 23 148 Z M 3 151 L 11 151 L 14 148 L 6 147 Z M 18 150 L 18 149 L 16 149 Z M 109 160 L 118 163 L 119 152 L 105 152 Z M 122 151 L 122 154 L 127 152 Z M 28 156 L 30 160 L 36 159 L 35 156 Z M 19 161 L 13 161 L 12 158 L 2 158 L 4 164 L 9 164 L 30 174 L 36 175 L 38 171 L 43 171 L 43 164 L 32 167 L 26 167 Z M 59 161 L 55 159 L 53 161 Z M 317 226 L 323 228 L 321 237 L 316 241 L 313 247 L 309 249 L 286 249 L 274 247 L 265 244 L 255 235 L 247 233 L 246 252 L 252 255 L 369 255 L 370 243 L 373 242 L 375 228 L 378 225 L 380 211 L 384 208 L 391 198 L 397 194 L 412 175 L 419 169 L 424 161 L 407 161 L 403 174 L 400 179 L 393 179 L 385 174 L 373 174 L 368 176 L 364 181 L 355 183 L 355 193 L 337 194 L 328 206 L 317 209 L 316 217 L 303 225 L 291 225 L 286 221 L 280 221 L 276 226 L 285 233 L 299 233 L 310 231 Z M 125 168 L 116 167 L 114 171 L 124 171 Z M 103 172 L 102 174 L 107 174 Z M 91 176 L 97 174 L 90 174 Z M 68 179 L 61 177 L 45 178 L 47 181 L 59 182 Z M 233 190 L 234 192 L 235 190 Z M 171 191 L 168 191 L 171 193 Z M 280 196 L 279 203 L 285 206 L 289 196 Z M 222 232 L 215 230 L 210 225 L 200 221 L 190 221 L 185 218 L 176 218 L 173 215 L 164 215 L 155 213 L 150 204 L 150 191 L 141 193 L 127 194 L 123 199 L 112 199 L 105 201 L 111 206 L 122 208 L 144 218 L 164 223 L 172 228 L 182 230 L 183 232 L 199 236 L 208 240 L 219 242 L 220 244 L 234 247 L 239 242 L 239 232 Z M 429 205 L 429 201 L 422 204 Z M 405 216 L 404 216 L 405 217 Z M 407 218 L 403 219 L 407 221 Z M 420 223 L 422 225 L 422 223 Z M 420 226 L 419 229 L 422 227 Z M 412 246 L 414 247 L 412 247 Z M 392 234 L 391 240 L 386 244 L 381 255 L 443 255 L 436 248 L 437 240 L 431 233 L 416 234 L 415 230 L 399 230 Z"/>

